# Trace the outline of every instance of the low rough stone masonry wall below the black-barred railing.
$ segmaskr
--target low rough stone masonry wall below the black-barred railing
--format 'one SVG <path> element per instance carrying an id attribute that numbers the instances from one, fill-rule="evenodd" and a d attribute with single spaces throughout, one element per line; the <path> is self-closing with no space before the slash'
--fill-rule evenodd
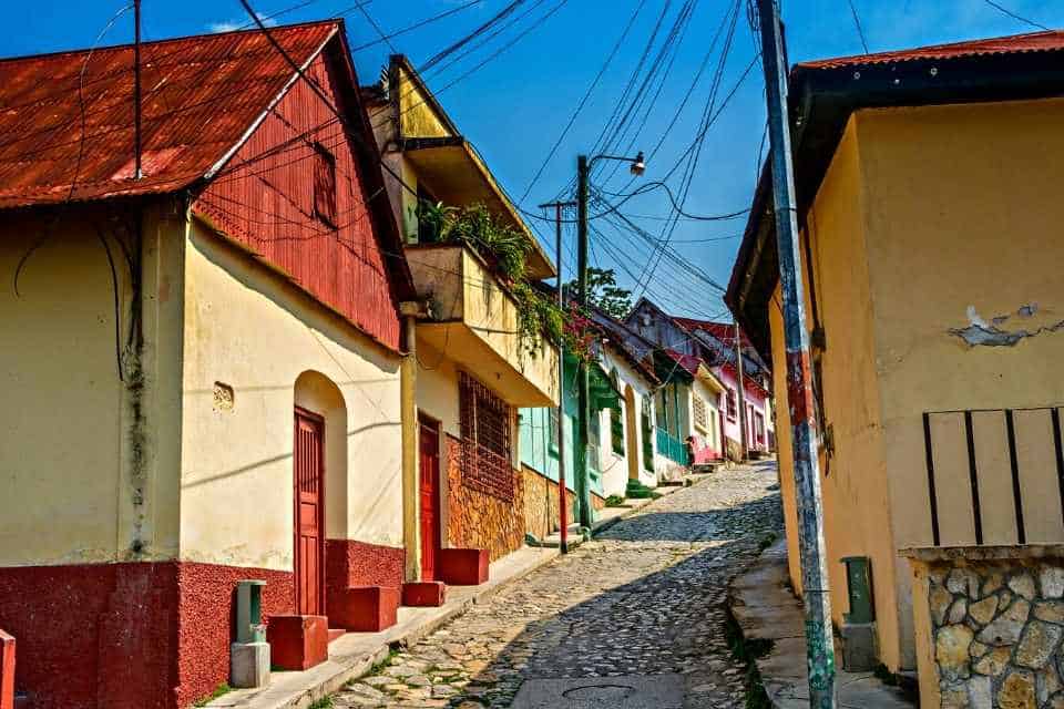
<path id="1" fill-rule="evenodd" d="M 941 706 L 1064 709 L 1064 561 L 932 565 Z"/>

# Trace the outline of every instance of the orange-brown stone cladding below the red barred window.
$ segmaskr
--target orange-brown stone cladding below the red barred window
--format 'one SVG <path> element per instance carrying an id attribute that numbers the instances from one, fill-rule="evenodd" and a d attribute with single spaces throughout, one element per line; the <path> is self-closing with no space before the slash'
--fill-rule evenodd
<path id="1" fill-rule="evenodd" d="M 462 444 L 447 436 L 447 532 L 456 548 L 488 549 L 495 561 L 524 546 L 524 481 L 513 471 L 513 501 L 462 483 Z"/>

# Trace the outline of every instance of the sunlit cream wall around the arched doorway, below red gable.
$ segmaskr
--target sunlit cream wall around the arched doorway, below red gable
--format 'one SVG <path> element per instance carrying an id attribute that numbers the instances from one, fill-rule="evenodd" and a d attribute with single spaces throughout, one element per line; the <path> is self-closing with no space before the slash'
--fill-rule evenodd
<path id="1" fill-rule="evenodd" d="M 332 405 L 313 380 L 297 400 L 305 372 L 346 408 L 348 480 L 326 472 L 327 534 L 402 546 L 399 357 L 198 222 L 185 263 L 181 557 L 291 568 L 293 407 Z M 232 410 L 215 405 L 216 382 Z"/>

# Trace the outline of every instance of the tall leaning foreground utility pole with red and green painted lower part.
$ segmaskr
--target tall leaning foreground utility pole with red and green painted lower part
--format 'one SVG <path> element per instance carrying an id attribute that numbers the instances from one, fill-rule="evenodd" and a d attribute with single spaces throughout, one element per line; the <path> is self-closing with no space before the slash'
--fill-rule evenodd
<path id="1" fill-rule="evenodd" d="M 787 68 L 776 0 L 757 0 L 761 59 L 768 97 L 771 136 L 773 192 L 776 206 L 776 245 L 784 291 L 784 340 L 787 348 L 787 403 L 790 408 L 795 490 L 798 502 L 798 546 L 806 612 L 806 662 L 810 709 L 835 709 L 835 645 L 831 635 L 831 598 L 823 549 L 823 504 L 812 415 L 809 332 L 798 250 L 798 215 L 787 114 Z"/>

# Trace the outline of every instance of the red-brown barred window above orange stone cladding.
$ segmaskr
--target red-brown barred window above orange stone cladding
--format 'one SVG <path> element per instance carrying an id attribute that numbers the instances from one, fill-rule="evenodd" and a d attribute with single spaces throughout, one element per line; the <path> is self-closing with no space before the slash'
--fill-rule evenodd
<path id="1" fill-rule="evenodd" d="M 459 405 L 462 484 L 512 502 L 510 407 L 466 372 L 459 376 Z"/>

